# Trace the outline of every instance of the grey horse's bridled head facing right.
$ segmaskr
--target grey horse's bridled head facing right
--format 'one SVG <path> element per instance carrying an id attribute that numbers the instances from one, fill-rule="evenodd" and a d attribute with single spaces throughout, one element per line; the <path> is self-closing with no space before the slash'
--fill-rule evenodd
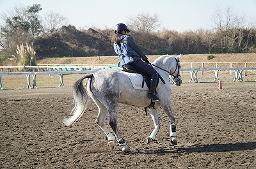
<path id="1" fill-rule="evenodd" d="M 182 84 L 182 80 L 180 78 L 180 55 L 173 57 L 173 59 L 175 59 L 175 62 L 172 62 L 170 69 L 170 81 L 172 82 L 172 84 L 175 84 L 177 86 L 180 86 Z"/>

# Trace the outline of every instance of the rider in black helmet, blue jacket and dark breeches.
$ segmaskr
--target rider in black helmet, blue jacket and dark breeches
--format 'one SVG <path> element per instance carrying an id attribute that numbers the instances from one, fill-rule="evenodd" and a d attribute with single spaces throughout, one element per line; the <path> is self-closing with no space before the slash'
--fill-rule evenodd
<path id="1" fill-rule="evenodd" d="M 156 96 L 156 85 L 158 80 L 157 71 L 150 66 L 148 58 L 143 54 L 143 51 L 135 43 L 132 36 L 127 35 L 129 29 L 125 24 L 119 23 L 115 26 L 115 40 L 114 49 L 116 54 L 120 57 L 119 66 L 129 64 L 138 70 L 140 73 L 150 77 L 150 87 L 148 91 L 148 98 L 156 101 L 159 98 Z M 141 59 L 144 61 L 141 61 Z"/>

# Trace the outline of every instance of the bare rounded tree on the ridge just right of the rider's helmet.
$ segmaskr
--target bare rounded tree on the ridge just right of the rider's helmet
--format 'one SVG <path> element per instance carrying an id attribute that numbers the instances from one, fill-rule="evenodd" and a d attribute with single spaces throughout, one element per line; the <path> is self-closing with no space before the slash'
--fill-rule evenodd
<path id="1" fill-rule="evenodd" d="M 152 33 L 157 27 L 161 26 L 158 15 L 149 13 L 140 13 L 138 16 L 129 17 L 128 26 L 134 31 L 142 34 Z"/>

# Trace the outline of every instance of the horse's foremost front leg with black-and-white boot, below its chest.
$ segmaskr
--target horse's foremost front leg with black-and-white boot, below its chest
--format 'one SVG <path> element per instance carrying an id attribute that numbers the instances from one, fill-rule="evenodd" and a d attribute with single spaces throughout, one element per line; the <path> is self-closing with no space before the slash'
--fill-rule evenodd
<path id="1" fill-rule="evenodd" d="M 170 124 L 170 141 L 173 145 L 177 145 L 177 133 L 176 133 L 176 125 L 175 125 L 175 118 L 174 115 L 172 114 L 172 108 L 170 103 L 168 105 L 164 105 L 163 107 L 164 111 L 170 118 L 171 124 Z"/>

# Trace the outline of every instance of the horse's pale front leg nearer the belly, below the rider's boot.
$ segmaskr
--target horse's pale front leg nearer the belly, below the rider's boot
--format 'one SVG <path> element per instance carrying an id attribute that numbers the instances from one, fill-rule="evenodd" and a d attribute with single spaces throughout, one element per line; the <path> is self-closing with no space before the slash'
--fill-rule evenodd
<path id="1" fill-rule="evenodd" d="M 158 115 L 158 112 L 157 112 L 157 109 L 155 108 L 150 108 L 150 115 L 153 119 L 153 122 L 154 122 L 154 126 L 155 128 L 153 129 L 152 133 L 150 134 L 150 136 L 148 136 L 147 140 L 146 140 L 146 143 L 150 143 L 152 142 L 152 140 L 155 140 L 156 139 L 156 135 L 157 135 L 157 132 L 159 131 L 160 129 L 160 122 L 159 122 L 159 115 Z"/>

